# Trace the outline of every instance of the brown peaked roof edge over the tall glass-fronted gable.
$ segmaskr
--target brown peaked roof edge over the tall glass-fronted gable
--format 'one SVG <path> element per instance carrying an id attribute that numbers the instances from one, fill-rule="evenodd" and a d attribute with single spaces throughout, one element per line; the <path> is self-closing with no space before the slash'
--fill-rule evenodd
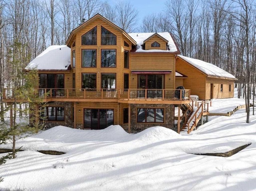
<path id="1" fill-rule="evenodd" d="M 104 16 L 100 15 L 100 14 L 96 14 L 94 15 L 92 18 L 88 19 L 86 22 L 80 24 L 77 28 L 75 28 L 74 30 L 72 30 L 72 32 L 70 33 L 68 40 L 66 41 L 66 45 L 69 46 L 69 44 L 71 43 L 70 41 L 72 40 L 72 37 L 84 26 L 86 26 L 87 24 L 93 22 L 96 19 L 101 19 L 102 21 L 104 21 L 105 23 L 109 24 L 110 26 L 112 26 L 113 28 L 115 28 L 116 30 L 118 30 L 119 32 L 121 32 L 126 38 L 128 38 L 134 45 L 136 45 L 136 41 L 134 41 L 134 39 L 132 39 L 132 37 L 130 37 L 130 35 L 128 35 L 128 33 L 126 33 L 122 28 L 120 28 L 119 26 L 117 26 L 116 24 L 114 24 L 112 21 L 108 20 L 107 18 L 105 18 Z M 69 46 L 70 47 L 70 46 Z"/>

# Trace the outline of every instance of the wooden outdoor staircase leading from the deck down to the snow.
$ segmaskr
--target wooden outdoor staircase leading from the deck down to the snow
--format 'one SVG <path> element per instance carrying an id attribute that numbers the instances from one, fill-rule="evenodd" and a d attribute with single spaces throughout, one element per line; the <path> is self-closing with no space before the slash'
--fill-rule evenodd
<path id="1" fill-rule="evenodd" d="M 188 130 L 190 133 L 192 130 L 196 129 L 198 122 L 201 120 L 201 124 L 203 124 L 203 116 L 208 115 L 209 111 L 209 102 L 200 101 L 195 102 L 190 99 L 191 104 L 181 104 L 180 109 L 182 110 L 182 121 L 183 125 L 181 130 Z M 200 104 L 199 104 L 200 103 Z M 194 105 L 197 109 L 194 111 Z"/>

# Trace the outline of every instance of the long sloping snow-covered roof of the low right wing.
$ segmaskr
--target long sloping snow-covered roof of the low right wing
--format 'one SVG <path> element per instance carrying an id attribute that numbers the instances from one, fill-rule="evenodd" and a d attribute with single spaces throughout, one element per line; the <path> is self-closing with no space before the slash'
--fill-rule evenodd
<path id="1" fill-rule="evenodd" d="M 202 60 L 189 58 L 186 56 L 178 55 L 181 59 L 188 62 L 192 66 L 196 67 L 203 73 L 205 73 L 208 76 L 217 76 L 217 77 L 224 77 L 224 78 L 230 78 L 230 79 L 236 79 L 232 74 L 224 71 L 223 69 L 217 67 L 216 65 L 213 65 L 208 62 L 204 62 Z"/>

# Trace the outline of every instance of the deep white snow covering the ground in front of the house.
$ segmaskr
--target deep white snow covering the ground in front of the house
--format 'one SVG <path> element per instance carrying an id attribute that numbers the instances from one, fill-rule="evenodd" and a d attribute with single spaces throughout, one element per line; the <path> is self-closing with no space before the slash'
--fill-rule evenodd
<path id="1" fill-rule="evenodd" d="M 230 100 L 230 102 L 228 102 Z M 237 98 L 214 100 L 212 109 L 244 104 Z M 223 106 L 223 107 L 220 107 Z M 252 108 L 251 108 L 252 109 Z M 211 116 L 191 134 L 164 127 L 128 134 L 115 125 L 104 130 L 57 126 L 17 142 L 17 158 L 0 166 L 0 188 L 54 190 L 256 190 L 256 116 L 240 109 L 232 116 Z M 192 153 L 227 152 L 228 158 Z M 2 147 L 10 148 L 10 145 Z M 50 156 L 36 150 L 66 152 Z"/>

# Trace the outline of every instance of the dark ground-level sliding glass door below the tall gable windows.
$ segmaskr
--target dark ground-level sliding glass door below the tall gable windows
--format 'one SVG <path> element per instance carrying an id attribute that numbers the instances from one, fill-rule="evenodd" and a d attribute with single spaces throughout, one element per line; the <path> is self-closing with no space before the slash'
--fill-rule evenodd
<path id="1" fill-rule="evenodd" d="M 114 109 L 84 109 L 85 129 L 104 129 L 114 124 Z"/>

